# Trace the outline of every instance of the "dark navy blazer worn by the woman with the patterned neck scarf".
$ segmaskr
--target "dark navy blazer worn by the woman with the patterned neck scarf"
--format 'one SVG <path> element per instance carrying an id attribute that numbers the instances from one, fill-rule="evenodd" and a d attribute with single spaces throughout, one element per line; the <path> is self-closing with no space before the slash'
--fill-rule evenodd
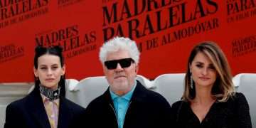
<path id="1" fill-rule="evenodd" d="M 60 97 L 58 128 L 67 128 L 83 110 L 85 109 L 65 97 Z M 4 128 L 14 127 L 50 128 L 50 122 L 39 90 L 33 90 L 26 97 L 11 102 L 6 107 Z"/>

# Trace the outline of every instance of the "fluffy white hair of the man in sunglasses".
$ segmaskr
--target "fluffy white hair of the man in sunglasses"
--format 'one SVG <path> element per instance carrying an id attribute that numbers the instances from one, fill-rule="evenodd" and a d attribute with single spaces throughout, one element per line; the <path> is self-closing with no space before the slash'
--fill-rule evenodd
<path id="1" fill-rule="evenodd" d="M 127 50 L 135 63 L 139 63 L 139 50 L 135 41 L 118 36 L 105 42 L 105 44 L 100 48 L 100 62 L 104 63 L 107 60 L 107 53 L 117 52 L 118 50 Z"/>

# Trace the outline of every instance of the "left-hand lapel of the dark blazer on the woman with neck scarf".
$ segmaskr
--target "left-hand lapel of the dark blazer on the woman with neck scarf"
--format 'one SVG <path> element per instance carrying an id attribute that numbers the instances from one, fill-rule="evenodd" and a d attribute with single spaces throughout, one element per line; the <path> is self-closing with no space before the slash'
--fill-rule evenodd
<path id="1" fill-rule="evenodd" d="M 33 90 L 33 92 L 29 94 L 27 105 L 28 112 L 32 114 L 39 126 L 43 128 L 50 128 L 50 123 L 43 105 L 43 100 L 39 92 Z"/>

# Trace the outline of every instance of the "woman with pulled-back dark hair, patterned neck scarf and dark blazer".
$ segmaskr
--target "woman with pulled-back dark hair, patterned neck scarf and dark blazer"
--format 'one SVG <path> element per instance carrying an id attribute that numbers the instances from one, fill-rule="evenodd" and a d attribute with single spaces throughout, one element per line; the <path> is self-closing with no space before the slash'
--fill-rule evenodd
<path id="1" fill-rule="evenodd" d="M 35 88 L 6 107 L 5 128 L 65 128 L 84 110 L 65 98 L 62 50 L 60 46 L 36 47 Z"/>

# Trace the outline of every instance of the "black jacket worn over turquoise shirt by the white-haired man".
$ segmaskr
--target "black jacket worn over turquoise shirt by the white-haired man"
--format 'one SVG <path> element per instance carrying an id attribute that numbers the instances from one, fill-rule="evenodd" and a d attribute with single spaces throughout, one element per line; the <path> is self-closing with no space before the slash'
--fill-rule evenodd
<path id="1" fill-rule="evenodd" d="M 159 93 L 147 90 L 139 81 L 124 119 L 124 128 L 170 127 L 171 107 Z M 117 128 L 117 117 L 109 88 L 87 106 L 75 127 Z M 78 125 L 79 124 L 79 125 Z"/>

